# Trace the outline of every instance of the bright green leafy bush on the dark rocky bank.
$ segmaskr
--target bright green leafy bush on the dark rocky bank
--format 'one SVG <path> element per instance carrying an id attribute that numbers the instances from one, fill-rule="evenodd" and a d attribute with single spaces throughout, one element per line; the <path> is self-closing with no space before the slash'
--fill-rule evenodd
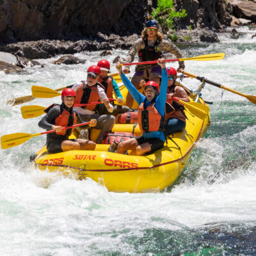
<path id="1" fill-rule="evenodd" d="M 173 29 L 173 21 L 175 19 L 188 15 L 184 9 L 182 9 L 182 12 L 176 12 L 173 0 L 157 0 L 157 8 L 151 14 L 163 29 Z"/>

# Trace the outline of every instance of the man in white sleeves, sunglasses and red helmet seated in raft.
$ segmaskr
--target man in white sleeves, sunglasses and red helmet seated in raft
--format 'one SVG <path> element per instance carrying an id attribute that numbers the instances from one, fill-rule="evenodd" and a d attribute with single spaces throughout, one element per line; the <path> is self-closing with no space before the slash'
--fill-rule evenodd
<path id="1" fill-rule="evenodd" d="M 86 81 L 81 81 L 72 86 L 72 89 L 76 91 L 75 104 L 86 104 L 102 100 L 104 106 L 106 107 L 106 109 L 108 109 L 108 112 L 111 113 L 113 112 L 113 106 L 109 103 L 108 97 L 104 92 L 104 89 L 98 83 L 100 74 L 100 67 L 93 65 L 87 70 Z M 95 113 L 97 109 L 97 104 L 76 107 L 75 109 L 81 116 L 81 120 L 83 122 L 88 122 L 90 119 L 97 120 L 97 125 L 95 126 L 95 128 L 99 129 L 100 132 L 95 142 L 102 143 L 102 135 L 108 131 L 111 131 L 115 124 L 115 116 L 97 115 Z M 83 136 L 81 136 L 81 138 L 83 138 Z"/>

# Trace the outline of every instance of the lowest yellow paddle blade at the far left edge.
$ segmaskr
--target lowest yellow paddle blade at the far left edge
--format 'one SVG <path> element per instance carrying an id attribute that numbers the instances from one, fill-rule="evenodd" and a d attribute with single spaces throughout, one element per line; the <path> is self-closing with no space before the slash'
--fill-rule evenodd
<path id="1" fill-rule="evenodd" d="M 33 137 L 33 134 L 17 132 L 6 134 L 1 137 L 1 148 L 12 148 L 18 146 Z"/>

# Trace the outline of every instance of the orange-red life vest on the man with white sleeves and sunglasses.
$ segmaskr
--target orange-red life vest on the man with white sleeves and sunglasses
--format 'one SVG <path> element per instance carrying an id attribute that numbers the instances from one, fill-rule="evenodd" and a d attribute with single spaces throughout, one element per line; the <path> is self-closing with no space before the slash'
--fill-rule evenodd
<path id="1" fill-rule="evenodd" d="M 88 86 L 84 81 L 82 81 L 81 85 L 76 90 L 76 99 L 74 104 L 97 102 L 99 99 L 98 83 L 93 86 Z M 93 111 L 97 108 L 97 104 L 83 106 L 81 108 L 86 108 Z"/>

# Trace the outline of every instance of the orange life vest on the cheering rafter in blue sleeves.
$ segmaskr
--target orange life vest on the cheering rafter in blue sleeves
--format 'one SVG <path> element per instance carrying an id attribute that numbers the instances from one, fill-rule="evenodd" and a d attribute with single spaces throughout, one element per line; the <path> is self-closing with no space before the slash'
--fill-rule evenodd
<path id="1" fill-rule="evenodd" d="M 164 117 L 158 113 L 155 107 L 156 103 L 152 102 L 147 109 L 144 109 L 144 103 L 142 102 L 138 108 L 138 122 L 141 131 L 164 131 Z"/>

